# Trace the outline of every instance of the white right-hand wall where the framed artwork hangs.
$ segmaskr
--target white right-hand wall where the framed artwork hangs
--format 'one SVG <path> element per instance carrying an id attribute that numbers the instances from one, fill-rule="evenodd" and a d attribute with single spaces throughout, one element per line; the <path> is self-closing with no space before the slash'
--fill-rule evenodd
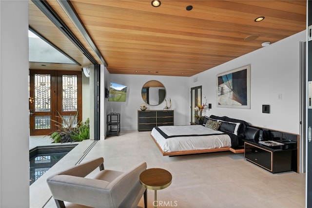
<path id="1" fill-rule="evenodd" d="M 299 134 L 299 42 L 305 39 L 302 31 L 191 77 L 191 87 L 202 85 L 202 97 L 206 96 L 207 103 L 213 104 L 206 114 L 226 115 L 251 125 Z M 216 107 L 216 75 L 248 64 L 251 64 L 251 109 Z M 194 78 L 198 82 L 193 83 Z M 281 100 L 278 94 L 282 94 Z M 270 105 L 270 114 L 262 113 L 262 104 Z"/>

